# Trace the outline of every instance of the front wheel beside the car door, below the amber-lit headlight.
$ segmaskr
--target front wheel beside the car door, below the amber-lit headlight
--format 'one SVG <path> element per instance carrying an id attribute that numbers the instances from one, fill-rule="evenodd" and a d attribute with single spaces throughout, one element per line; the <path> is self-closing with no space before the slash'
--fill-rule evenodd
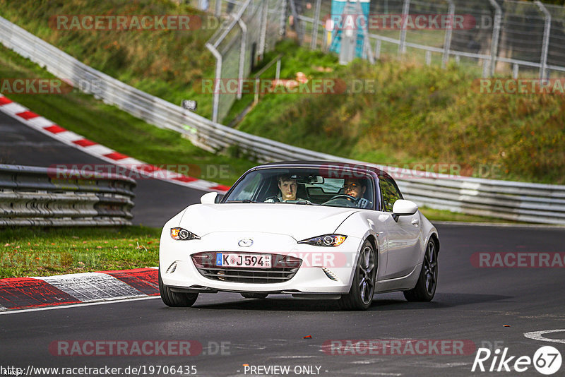
<path id="1" fill-rule="evenodd" d="M 343 294 L 340 306 L 345 310 L 367 310 L 373 302 L 375 292 L 377 260 L 373 245 L 365 240 L 349 293 Z"/>

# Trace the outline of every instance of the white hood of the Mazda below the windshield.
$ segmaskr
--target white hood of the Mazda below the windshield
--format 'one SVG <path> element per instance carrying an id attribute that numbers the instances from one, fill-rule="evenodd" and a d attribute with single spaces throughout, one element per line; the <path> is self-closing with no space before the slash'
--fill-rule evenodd
<path id="1" fill-rule="evenodd" d="M 297 241 L 331 234 L 356 208 L 286 203 L 195 204 L 184 211 L 179 227 L 203 237 L 211 232 L 287 234 Z"/>

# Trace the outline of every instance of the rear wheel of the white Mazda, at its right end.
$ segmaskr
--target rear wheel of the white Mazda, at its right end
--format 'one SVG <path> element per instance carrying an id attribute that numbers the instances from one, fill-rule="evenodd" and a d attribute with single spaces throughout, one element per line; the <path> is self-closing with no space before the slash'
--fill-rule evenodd
<path id="1" fill-rule="evenodd" d="M 408 301 L 432 301 L 437 286 L 437 246 L 430 239 L 424 254 L 424 262 L 416 287 L 404 292 Z"/>

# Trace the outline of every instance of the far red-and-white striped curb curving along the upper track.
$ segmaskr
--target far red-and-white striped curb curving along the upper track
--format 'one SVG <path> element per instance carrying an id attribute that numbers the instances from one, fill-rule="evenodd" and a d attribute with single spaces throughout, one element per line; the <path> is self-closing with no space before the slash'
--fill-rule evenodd
<path id="1" fill-rule="evenodd" d="M 58 124 L 54 124 L 54 122 L 49 119 L 31 112 L 30 109 L 26 109 L 4 95 L 0 95 L 0 111 L 18 119 L 18 121 L 26 126 L 35 128 L 37 131 L 51 136 L 66 145 L 71 145 L 73 148 L 78 148 L 79 150 L 88 153 L 88 155 L 100 158 L 101 160 L 125 167 L 137 174 L 148 176 L 153 179 L 168 181 L 181 186 L 197 188 L 203 191 L 218 191 L 220 193 L 225 193 L 225 191 L 230 189 L 228 186 L 205 181 L 203 179 L 197 179 L 193 176 L 187 176 L 177 172 L 171 172 L 169 170 L 161 169 L 153 164 L 148 164 L 146 162 L 136 160 L 133 157 L 123 155 L 120 152 L 105 147 L 104 145 L 88 140 L 77 133 L 68 131 Z"/>

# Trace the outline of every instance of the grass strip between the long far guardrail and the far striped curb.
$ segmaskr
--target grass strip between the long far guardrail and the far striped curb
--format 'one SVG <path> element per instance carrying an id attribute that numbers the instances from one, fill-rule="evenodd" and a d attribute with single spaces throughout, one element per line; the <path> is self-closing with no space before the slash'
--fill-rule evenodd
<path id="1" fill-rule="evenodd" d="M 54 76 L 0 46 L 0 78 Z M 179 133 L 147 124 L 117 107 L 95 100 L 92 95 L 80 92 L 64 95 L 3 94 L 70 131 L 138 160 L 169 165 L 172 169 L 179 165 L 183 166 L 180 169 L 184 169 L 188 165 L 188 174 L 197 178 L 231 186 L 246 169 L 254 165 L 254 162 L 243 158 L 206 152 Z M 214 174 L 220 172 L 220 167 L 222 174 Z"/>

